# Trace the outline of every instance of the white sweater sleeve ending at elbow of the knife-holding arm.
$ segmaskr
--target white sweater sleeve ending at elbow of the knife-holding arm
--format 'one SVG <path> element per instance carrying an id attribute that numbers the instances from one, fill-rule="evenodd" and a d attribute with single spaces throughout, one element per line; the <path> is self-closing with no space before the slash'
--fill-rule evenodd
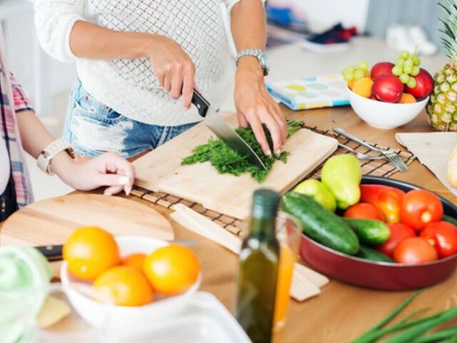
<path id="1" fill-rule="evenodd" d="M 41 47 L 62 62 L 77 59 L 70 49 L 76 21 L 84 20 L 84 0 L 34 0 L 36 33 Z"/>

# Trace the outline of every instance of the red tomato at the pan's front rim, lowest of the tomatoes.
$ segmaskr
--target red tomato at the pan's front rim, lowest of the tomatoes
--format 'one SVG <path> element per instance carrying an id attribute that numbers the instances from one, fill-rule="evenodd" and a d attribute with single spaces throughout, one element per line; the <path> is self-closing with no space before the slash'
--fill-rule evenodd
<path id="1" fill-rule="evenodd" d="M 411 237 L 398 244 L 393 259 L 398 263 L 420 264 L 436 261 L 438 253 L 426 239 Z"/>

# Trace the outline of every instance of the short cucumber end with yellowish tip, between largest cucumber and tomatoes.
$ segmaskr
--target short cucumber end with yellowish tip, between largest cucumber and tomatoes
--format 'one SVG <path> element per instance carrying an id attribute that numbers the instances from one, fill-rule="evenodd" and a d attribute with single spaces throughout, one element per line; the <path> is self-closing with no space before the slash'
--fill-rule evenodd
<path id="1" fill-rule="evenodd" d="M 344 222 L 353 229 L 362 244 L 370 246 L 383 244 L 391 236 L 391 229 L 378 220 L 344 218 Z"/>

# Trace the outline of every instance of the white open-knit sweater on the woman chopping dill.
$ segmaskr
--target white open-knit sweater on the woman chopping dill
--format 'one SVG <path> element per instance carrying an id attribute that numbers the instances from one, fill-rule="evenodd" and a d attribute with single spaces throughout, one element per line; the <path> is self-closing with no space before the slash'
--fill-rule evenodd
<path id="1" fill-rule="evenodd" d="M 84 20 L 117 31 L 148 32 L 178 42 L 196 66 L 196 85 L 219 106 L 229 96 L 233 61 L 221 17 L 239 0 L 34 0 L 41 46 L 59 61 L 76 61 L 84 89 L 120 114 L 147 124 L 176 126 L 198 121 L 163 91 L 149 59 L 89 60 L 71 52 L 69 36 Z"/>

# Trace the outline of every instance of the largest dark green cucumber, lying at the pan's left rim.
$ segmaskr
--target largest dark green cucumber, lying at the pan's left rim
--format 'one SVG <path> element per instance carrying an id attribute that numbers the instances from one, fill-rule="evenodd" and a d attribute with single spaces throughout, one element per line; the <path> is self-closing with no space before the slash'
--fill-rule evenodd
<path id="1" fill-rule="evenodd" d="M 341 217 L 325 209 L 316 200 L 295 192 L 281 199 L 283 211 L 296 217 L 303 233 L 326 247 L 354 255 L 358 251 L 358 238 Z"/>

